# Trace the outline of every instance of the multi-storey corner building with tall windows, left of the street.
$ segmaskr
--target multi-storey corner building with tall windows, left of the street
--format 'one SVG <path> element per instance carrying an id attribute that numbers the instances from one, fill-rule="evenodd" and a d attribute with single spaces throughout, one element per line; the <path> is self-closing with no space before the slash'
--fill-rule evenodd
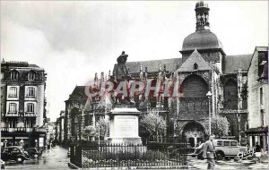
<path id="1" fill-rule="evenodd" d="M 46 146 L 46 72 L 26 62 L 1 63 L 1 141 Z"/>

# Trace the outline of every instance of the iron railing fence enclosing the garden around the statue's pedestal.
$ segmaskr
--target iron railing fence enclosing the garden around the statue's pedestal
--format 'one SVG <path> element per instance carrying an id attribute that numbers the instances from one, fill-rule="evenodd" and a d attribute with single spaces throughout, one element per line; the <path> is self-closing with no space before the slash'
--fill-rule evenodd
<path id="1" fill-rule="evenodd" d="M 120 166 L 186 166 L 187 143 L 146 145 L 87 144 L 71 147 L 70 162 L 82 168 Z"/>

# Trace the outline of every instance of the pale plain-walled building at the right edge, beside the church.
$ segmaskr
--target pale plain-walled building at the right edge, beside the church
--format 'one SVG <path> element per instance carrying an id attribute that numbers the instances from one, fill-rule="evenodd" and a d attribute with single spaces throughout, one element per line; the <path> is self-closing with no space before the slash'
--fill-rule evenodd
<path id="1" fill-rule="evenodd" d="M 249 145 L 268 146 L 268 47 L 256 47 L 247 72 Z"/>

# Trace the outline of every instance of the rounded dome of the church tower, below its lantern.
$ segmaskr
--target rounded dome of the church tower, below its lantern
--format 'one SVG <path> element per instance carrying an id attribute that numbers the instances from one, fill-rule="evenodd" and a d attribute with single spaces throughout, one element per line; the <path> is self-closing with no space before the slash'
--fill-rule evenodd
<path id="1" fill-rule="evenodd" d="M 197 30 L 184 39 L 181 51 L 193 51 L 195 48 L 201 50 L 223 47 L 220 39 L 210 30 Z"/>

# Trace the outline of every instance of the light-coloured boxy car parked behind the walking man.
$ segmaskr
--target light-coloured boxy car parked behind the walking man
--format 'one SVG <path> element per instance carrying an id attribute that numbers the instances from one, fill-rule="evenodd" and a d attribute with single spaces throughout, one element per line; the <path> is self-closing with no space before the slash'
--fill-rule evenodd
<path id="1" fill-rule="evenodd" d="M 247 151 L 247 147 L 240 146 L 237 140 L 213 140 L 213 144 L 218 160 L 223 157 L 237 157 L 239 152 Z"/>

